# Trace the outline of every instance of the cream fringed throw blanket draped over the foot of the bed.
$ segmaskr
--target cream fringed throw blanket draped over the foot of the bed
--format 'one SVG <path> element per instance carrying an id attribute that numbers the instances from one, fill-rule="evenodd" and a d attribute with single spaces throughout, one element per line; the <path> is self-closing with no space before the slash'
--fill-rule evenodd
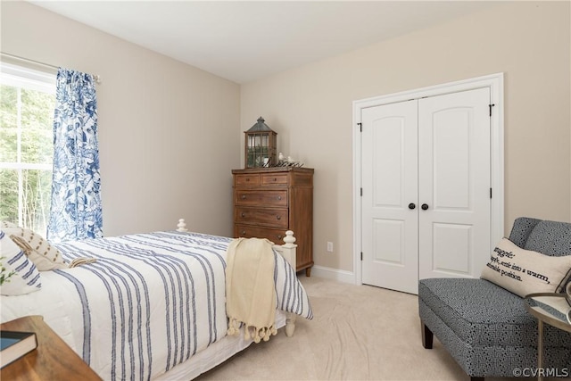
<path id="1" fill-rule="evenodd" d="M 237 335 L 244 324 L 244 338 L 254 343 L 276 335 L 276 286 L 273 244 L 268 239 L 236 238 L 228 246 L 226 313 L 228 335 Z"/>

